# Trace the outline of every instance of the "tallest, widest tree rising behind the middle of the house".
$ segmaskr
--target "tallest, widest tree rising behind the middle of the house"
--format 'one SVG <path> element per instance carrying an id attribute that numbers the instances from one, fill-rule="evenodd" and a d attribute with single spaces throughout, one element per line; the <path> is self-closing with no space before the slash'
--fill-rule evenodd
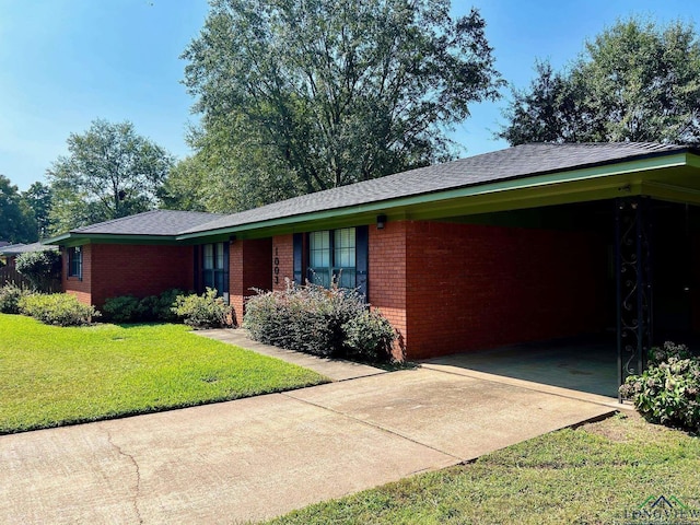
<path id="1" fill-rule="evenodd" d="M 233 209 L 450 158 L 446 131 L 502 84 L 483 20 L 448 0 L 212 0 L 183 57 L 189 167 Z"/>

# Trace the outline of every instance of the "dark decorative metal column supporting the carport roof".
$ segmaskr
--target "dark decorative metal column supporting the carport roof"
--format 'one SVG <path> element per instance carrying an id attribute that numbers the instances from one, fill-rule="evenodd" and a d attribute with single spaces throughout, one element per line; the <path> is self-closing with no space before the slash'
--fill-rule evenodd
<path id="1" fill-rule="evenodd" d="M 617 365 L 620 385 L 646 366 L 652 345 L 651 206 L 645 197 L 615 201 Z"/>

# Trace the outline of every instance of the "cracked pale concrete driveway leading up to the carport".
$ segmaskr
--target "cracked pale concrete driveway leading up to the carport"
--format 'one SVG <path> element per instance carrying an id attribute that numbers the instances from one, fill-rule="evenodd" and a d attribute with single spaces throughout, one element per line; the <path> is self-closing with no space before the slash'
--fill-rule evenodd
<path id="1" fill-rule="evenodd" d="M 417 369 L 0 436 L 0 523 L 236 523 L 614 411 Z"/>

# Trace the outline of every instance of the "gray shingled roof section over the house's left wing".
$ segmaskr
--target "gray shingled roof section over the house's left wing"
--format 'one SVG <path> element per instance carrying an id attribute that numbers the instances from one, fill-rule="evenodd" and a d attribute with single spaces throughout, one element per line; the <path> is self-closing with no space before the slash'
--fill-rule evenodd
<path id="1" fill-rule="evenodd" d="M 199 211 L 153 210 L 79 228 L 70 233 L 174 236 L 222 217 L 225 215 Z"/>

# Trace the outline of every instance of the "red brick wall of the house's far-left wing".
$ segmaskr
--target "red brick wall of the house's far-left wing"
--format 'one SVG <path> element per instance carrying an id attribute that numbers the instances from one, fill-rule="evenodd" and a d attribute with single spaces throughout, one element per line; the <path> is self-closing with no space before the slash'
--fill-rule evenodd
<path id="1" fill-rule="evenodd" d="M 63 287 L 97 307 L 117 295 L 144 298 L 168 288 L 190 290 L 194 288 L 192 258 L 191 246 L 86 245 L 83 246 L 82 282 L 70 278 Z"/>

